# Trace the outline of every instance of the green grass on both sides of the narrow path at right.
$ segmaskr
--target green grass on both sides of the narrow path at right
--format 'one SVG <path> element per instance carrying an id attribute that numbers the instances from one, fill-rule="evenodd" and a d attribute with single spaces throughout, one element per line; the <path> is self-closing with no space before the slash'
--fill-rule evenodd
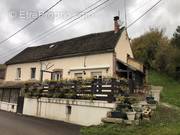
<path id="1" fill-rule="evenodd" d="M 149 73 L 149 83 L 164 87 L 162 101 L 180 107 L 180 83 L 154 71 Z M 105 124 L 84 127 L 81 135 L 179 135 L 180 111 L 159 106 L 150 122 L 140 126 Z"/>

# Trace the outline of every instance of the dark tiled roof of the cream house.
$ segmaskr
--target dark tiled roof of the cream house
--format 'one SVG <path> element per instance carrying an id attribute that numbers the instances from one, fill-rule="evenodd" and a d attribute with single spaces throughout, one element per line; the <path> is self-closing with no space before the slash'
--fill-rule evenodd
<path id="1" fill-rule="evenodd" d="M 6 62 L 7 65 L 113 52 L 124 28 L 118 33 L 95 33 L 46 45 L 29 47 Z"/>

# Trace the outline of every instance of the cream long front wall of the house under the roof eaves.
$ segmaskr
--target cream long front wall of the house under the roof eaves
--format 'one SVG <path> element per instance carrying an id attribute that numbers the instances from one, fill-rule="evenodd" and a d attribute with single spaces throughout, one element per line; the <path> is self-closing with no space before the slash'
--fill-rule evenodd
<path id="1" fill-rule="evenodd" d="M 84 78 L 90 78 L 90 73 L 94 71 L 102 71 L 103 76 L 113 75 L 113 53 L 54 59 L 43 61 L 42 63 L 43 65 L 49 64 L 49 66 L 52 66 L 49 71 L 53 71 L 54 69 L 63 69 L 64 79 L 74 78 L 75 71 L 70 72 L 70 74 L 68 72 L 70 71 L 70 69 L 83 68 L 84 63 L 86 64 L 87 68 L 94 68 L 91 70 L 87 70 Z M 96 67 L 103 66 L 109 66 L 109 70 L 106 71 L 106 69 L 95 69 Z M 8 65 L 5 80 L 15 81 L 17 79 L 16 70 L 17 68 L 21 68 L 21 81 L 28 81 L 31 77 L 30 69 L 34 67 L 36 68 L 36 80 L 40 80 L 41 62 Z M 82 70 L 80 71 L 82 72 Z M 44 74 L 44 80 L 46 79 L 51 79 L 51 75 L 49 73 Z"/>

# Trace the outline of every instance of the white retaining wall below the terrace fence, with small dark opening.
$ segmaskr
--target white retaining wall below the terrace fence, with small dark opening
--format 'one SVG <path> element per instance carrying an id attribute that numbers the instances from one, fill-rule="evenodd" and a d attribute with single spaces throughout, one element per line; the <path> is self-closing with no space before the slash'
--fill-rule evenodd
<path id="1" fill-rule="evenodd" d="M 72 107 L 70 115 L 66 113 L 67 105 Z M 114 107 L 114 103 L 105 101 L 25 98 L 23 114 L 90 126 L 100 124 Z"/>

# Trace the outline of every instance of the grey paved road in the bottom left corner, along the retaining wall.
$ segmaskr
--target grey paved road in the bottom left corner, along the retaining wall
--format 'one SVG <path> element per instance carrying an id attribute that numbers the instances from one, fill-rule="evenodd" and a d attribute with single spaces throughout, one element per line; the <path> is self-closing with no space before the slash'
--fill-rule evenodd
<path id="1" fill-rule="evenodd" d="M 0 135 L 79 135 L 79 130 L 77 125 L 0 111 Z"/>

